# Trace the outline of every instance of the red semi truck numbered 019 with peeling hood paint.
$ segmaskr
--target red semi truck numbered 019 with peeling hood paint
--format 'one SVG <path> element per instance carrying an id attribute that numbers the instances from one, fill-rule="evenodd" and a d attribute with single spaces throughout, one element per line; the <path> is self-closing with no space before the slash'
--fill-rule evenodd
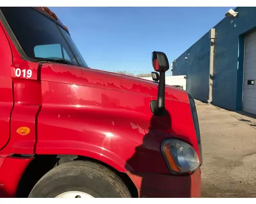
<path id="1" fill-rule="evenodd" d="M 0 197 L 200 197 L 195 101 L 164 53 L 159 83 L 88 68 L 46 7 L 0 8 L 0 45 Z"/>

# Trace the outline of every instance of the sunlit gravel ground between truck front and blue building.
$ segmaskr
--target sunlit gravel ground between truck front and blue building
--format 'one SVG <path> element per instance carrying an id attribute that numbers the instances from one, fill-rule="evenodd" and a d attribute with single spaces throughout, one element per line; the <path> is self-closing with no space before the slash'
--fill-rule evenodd
<path id="1" fill-rule="evenodd" d="M 256 117 L 196 101 L 202 197 L 256 197 Z"/>

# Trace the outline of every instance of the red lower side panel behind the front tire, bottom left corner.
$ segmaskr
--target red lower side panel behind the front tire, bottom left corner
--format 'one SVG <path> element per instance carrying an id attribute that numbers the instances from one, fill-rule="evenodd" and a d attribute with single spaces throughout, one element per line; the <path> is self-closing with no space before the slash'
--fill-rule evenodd
<path id="1" fill-rule="evenodd" d="M 15 197 L 19 181 L 33 158 L 0 157 L 0 198 Z"/>

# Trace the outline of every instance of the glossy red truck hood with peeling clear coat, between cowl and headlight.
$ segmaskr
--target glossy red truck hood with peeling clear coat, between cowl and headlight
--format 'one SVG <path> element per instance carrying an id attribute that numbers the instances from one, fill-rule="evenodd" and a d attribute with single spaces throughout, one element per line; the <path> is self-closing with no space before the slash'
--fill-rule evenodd
<path id="1" fill-rule="evenodd" d="M 181 89 L 166 86 L 168 114 L 158 117 L 150 110 L 157 84 L 146 80 L 44 64 L 41 88 L 37 154 L 92 157 L 123 172 L 168 173 L 160 150 L 164 138 L 179 137 L 198 151 L 188 96 Z"/>

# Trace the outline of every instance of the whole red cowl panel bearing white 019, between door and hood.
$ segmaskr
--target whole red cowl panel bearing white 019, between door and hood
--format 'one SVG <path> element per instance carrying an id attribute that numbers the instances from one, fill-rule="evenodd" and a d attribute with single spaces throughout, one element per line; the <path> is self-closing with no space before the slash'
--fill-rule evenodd
<path id="1" fill-rule="evenodd" d="M 19 57 L 13 57 L 13 63 L 9 66 L 11 75 L 9 78 L 13 84 L 13 109 L 10 122 L 10 140 L 6 147 L 1 151 L 1 155 L 15 154 L 34 154 L 36 140 L 36 116 L 41 106 L 41 83 L 37 79 L 38 63 L 31 63 L 21 60 Z M 30 79 L 18 78 L 15 76 L 15 69 L 31 70 Z M 16 133 L 18 127 L 27 126 L 30 133 L 26 136 Z"/>

